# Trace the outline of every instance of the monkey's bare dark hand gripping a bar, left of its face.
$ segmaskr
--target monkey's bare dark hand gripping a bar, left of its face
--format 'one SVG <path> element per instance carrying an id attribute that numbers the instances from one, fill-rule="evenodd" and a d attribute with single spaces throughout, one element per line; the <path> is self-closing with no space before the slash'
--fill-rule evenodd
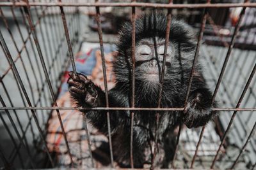
<path id="1" fill-rule="evenodd" d="M 83 74 L 69 73 L 68 90 L 71 97 L 78 106 L 95 107 L 97 106 L 97 89 L 91 80 Z"/>

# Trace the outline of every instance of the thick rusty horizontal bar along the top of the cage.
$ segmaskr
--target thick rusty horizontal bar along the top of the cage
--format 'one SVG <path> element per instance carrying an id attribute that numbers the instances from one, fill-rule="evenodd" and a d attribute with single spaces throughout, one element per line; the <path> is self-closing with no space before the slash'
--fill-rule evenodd
<path id="1" fill-rule="evenodd" d="M 20 2 L 3 2 L 0 6 L 27 6 Z M 232 8 L 256 7 L 256 3 L 216 3 L 216 4 L 159 4 L 159 3 L 38 3 L 31 2 L 29 6 L 99 6 L 99 7 L 151 7 L 151 8 Z"/>

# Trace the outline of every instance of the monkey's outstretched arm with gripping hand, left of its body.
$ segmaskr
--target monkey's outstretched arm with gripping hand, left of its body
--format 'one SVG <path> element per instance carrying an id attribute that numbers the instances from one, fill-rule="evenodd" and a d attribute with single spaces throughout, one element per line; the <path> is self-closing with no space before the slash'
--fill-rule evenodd
<path id="1" fill-rule="evenodd" d="M 93 108 L 93 107 L 106 107 L 105 93 L 91 80 L 88 80 L 83 74 L 69 73 L 68 79 L 70 96 L 78 107 Z M 109 105 L 113 105 L 115 99 L 113 95 L 109 94 Z M 116 106 L 119 106 L 116 104 Z M 100 132 L 108 134 L 108 119 L 106 111 L 83 111 L 86 114 L 86 118 L 96 127 Z M 116 131 L 118 124 L 124 122 L 127 118 L 124 118 L 125 114 L 119 113 L 119 111 L 111 111 L 109 114 L 111 122 L 111 131 Z M 126 122 L 124 122 L 125 124 Z M 128 120 L 127 120 L 128 124 Z"/>

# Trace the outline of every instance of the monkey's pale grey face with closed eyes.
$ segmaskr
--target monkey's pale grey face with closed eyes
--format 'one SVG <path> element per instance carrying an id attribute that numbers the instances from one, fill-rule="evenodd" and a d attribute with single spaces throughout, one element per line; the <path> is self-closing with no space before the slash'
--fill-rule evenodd
<path id="1" fill-rule="evenodd" d="M 171 42 L 166 50 L 165 73 L 172 63 L 175 55 L 175 48 Z M 135 76 L 137 80 L 149 81 L 149 83 L 159 83 L 163 67 L 164 39 L 147 38 L 141 39 L 136 45 Z"/>

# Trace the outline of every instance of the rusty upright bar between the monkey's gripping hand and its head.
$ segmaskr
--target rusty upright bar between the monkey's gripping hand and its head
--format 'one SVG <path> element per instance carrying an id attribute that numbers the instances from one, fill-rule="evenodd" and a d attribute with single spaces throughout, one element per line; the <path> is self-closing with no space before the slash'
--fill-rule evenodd
<path id="1" fill-rule="evenodd" d="M 98 0 L 95 0 L 97 3 Z M 101 60 L 102 60 L 102 70 L 103 70 L 103 78 L 104 78 L 104 90 L 105 90 L 105 97 L 106 97 L 106 108 L 109 107 L 108 101 L 108 81 L 106 76 L 106 64 L 105 64 L 105 57 L 104 57 L 104 47 L 103 47 L 103 39 L 102 39 L 102 29 L 100 23 L 100 8 L 96 6 L 96 21 L 98 25 L 98 34 L 99 34 L 99 42 L 100 42 L 100 53 L 101 53 Z M 113 148 L 112 148 L 112 141 L 111 141 L 111 127 L 110 127 L 110 118 L 109 118 L 109 111 L 107 111 L 107 121 L 108 121 L 108 139 L 109 139 L 109 149 L 110 149 L 110 158 L 111 158 L 111 167 L 114 167 L 114 159 L 113 159 Z"/>

